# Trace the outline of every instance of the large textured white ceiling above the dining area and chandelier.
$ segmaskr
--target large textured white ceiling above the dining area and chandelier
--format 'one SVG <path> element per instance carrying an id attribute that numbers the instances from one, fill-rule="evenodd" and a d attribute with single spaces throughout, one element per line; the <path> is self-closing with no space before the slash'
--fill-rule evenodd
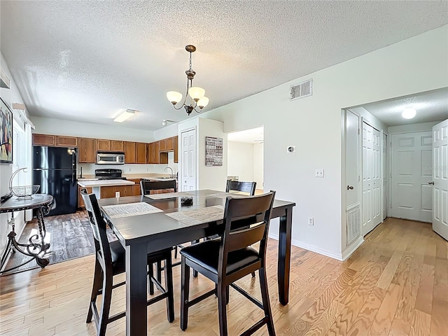
<path id="1" fill-rule="evenodd" d="M 180 121 L 188 53 L 207 110 L 448 23 L 447 1 L 0 1 L 29 113 L 144 130 Z"/>

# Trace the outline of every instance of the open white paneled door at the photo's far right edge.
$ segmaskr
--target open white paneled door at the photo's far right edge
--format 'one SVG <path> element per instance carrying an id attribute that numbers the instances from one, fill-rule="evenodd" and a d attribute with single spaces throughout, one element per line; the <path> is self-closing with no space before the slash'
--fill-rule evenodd
<path id="1" fill-rule="evenodd" d="M 448 240 L 448 119 L 433 127 L 433 230 Z"/>

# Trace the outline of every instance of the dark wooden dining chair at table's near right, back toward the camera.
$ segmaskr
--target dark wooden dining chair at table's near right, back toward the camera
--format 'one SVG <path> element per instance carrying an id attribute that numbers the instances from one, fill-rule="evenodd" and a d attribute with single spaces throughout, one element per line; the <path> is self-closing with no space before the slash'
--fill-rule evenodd
<path id="1" fill-rule="evenodd" d="M 181 329 L 188 326 L 188 309 L 211 295 L 218 296 L 219 332 L 228 335 L 226 304 L 229 286 L 263 309 L 264 317 L 242 335 L 252 335 L 262 325 L 267 325 L 269 336 L 274 336 L 274 322 L 266 278 L 266 246 L 269 220 L 275 192 L 251 197 L 227 197 L 224 210 L 224 231 L 221 239 L 202 241 L 181 250 Z M 248 228 L 231 230 L 232 223 L 241 218 L 252 218 Z M 258 251 L 251 247 L 260 242 Z M 216 287 L 194 299 L 190 299 L 190 268 L 197 270 Z M 245 290 L 235 285 L 235 281 L 258 269 L 262 302 L 251 297 Z"/>

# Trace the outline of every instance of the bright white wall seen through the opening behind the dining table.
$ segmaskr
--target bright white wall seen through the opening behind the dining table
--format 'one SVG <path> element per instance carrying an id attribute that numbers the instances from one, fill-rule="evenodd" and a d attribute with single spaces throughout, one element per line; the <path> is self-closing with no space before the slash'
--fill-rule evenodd
<path id="1" fill-rule="evenodd" d="M 254 181 L 253 179 L 253 144 L 228 141 L 229 176 L 238 176 L 239 181 Z"/>

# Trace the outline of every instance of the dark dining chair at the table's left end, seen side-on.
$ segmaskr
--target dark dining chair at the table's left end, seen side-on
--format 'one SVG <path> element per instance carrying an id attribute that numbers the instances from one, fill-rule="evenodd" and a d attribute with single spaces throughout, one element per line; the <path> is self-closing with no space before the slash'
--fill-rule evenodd
<path id="1" fill-rule="evenodd" d="M 92 295 L 90 296 L 89 311 L 87 313 L 86 323 L 92 322 L 94 318 L 97 326 L 97 335 L 106 335 L 107 325 L 126 315 L 123 311 L 119 314 L 109 316 L 111 309 L 112 290 L 119 286 L 123 286 L 125 281 L 113 284 L 113 276 L 125 272 L 125 248 L 120 241 L 110 241 L 107 239 L 106 222 L 102 217 L 99 209 L 97 197 L 94 194 L 88 194 L 87 190 L 82 189 L 80 194 L 85 203 L 85 209 L 90 219 L 92 227 L 94 244 L 95 244 L 95 267 L 94 279 L 92 284 Z M 169 322 L 174 321 L 174 291 L 173 291 L 173 274 L 171 267 L 171 248 L 148 254 L 148 267 L 152 269 L 155 262 L 165 261 L 165 288 L 158 279 L 152 276 L 151 272 L 149 281 L 157 286 L 162 294 L 152 297 L 147 301 L 147 305 L 153 304 L 164 298 L 167 299 L 167 319 Z M 97 297 L 102 295 L 101 311 L 98 312 Z"/>

